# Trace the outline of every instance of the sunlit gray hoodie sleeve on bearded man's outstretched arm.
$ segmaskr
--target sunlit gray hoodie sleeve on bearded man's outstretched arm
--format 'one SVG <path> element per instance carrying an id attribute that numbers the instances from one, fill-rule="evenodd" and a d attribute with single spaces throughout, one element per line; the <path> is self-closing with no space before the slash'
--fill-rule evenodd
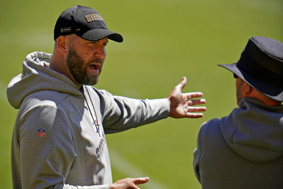
<path id="1" fill-rule="evenodd" d="M 106 134 L 125 131 L 167 118 L 170 112 L 168 99 L 138 100 L 113 96 L 105 90 L 96 90 L 100 98 L 103 129 Z"/>

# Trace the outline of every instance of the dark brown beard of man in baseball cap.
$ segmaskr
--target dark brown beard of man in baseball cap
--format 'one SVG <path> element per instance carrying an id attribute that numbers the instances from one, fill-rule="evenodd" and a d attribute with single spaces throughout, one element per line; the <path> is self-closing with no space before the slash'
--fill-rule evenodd
<path id="1" fill-rule="evenodd" d="M 102 65 L 99 68 L 99 73 L 87 73 L 87 68 L 91 63 L 101 63 L 103 64 L 102 58 L 97 58 L 91 62 L 85 63 L 83 58 L 81 58 L 73 45 L 70 46 L 68 55 L 67 55 L 67 66 L 70 70 L 70 73 L 73 75 L 75 81 L 81 85 L 95 85 L 98 82 L 99 75 L 102 70 Z"/>

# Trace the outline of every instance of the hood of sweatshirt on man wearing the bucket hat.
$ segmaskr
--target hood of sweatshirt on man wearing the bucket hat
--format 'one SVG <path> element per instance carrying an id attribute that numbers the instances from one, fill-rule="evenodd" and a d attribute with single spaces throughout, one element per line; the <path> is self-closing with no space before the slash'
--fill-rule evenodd
<path id="1" fill-rule="evenodd" d="M 283 155 L 283 106 L 271 107 L 243 98 L 220 129 L 227 144 L 252 162 L 269 162 Z"/>

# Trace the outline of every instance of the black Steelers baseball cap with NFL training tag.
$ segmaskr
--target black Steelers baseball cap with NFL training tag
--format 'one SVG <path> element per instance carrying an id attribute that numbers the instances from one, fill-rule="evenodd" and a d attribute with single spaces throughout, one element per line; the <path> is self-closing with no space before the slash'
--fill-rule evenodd
<path id="1" fill-rule="evenodd" d="M 54 40 L 60 35 L 73 33 L 89 41 L 98 41 L 106 36 L 119 43 L 123 41 L 119 33 L 108 30 L 103 17 L 96 10 L 80 5 L 70 7 L 59 16 L 54 27 Z"/>

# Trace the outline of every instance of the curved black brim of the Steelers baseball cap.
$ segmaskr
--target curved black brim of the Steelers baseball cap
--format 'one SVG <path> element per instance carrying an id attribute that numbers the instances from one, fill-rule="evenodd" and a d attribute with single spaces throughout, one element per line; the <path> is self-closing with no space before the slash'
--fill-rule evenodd
<path id="1" fill-rule="evenodd" d="M 87 32 L 77 31 L 76 35 L 89 41 L 98 41 L 108 36 L 108 39 L 110 40 L 119 43 L 123 42 L 123 37 L 119 33 L 113 32 L 105 28 L 96 28 L 96 29 L 88 30 Z"/>

